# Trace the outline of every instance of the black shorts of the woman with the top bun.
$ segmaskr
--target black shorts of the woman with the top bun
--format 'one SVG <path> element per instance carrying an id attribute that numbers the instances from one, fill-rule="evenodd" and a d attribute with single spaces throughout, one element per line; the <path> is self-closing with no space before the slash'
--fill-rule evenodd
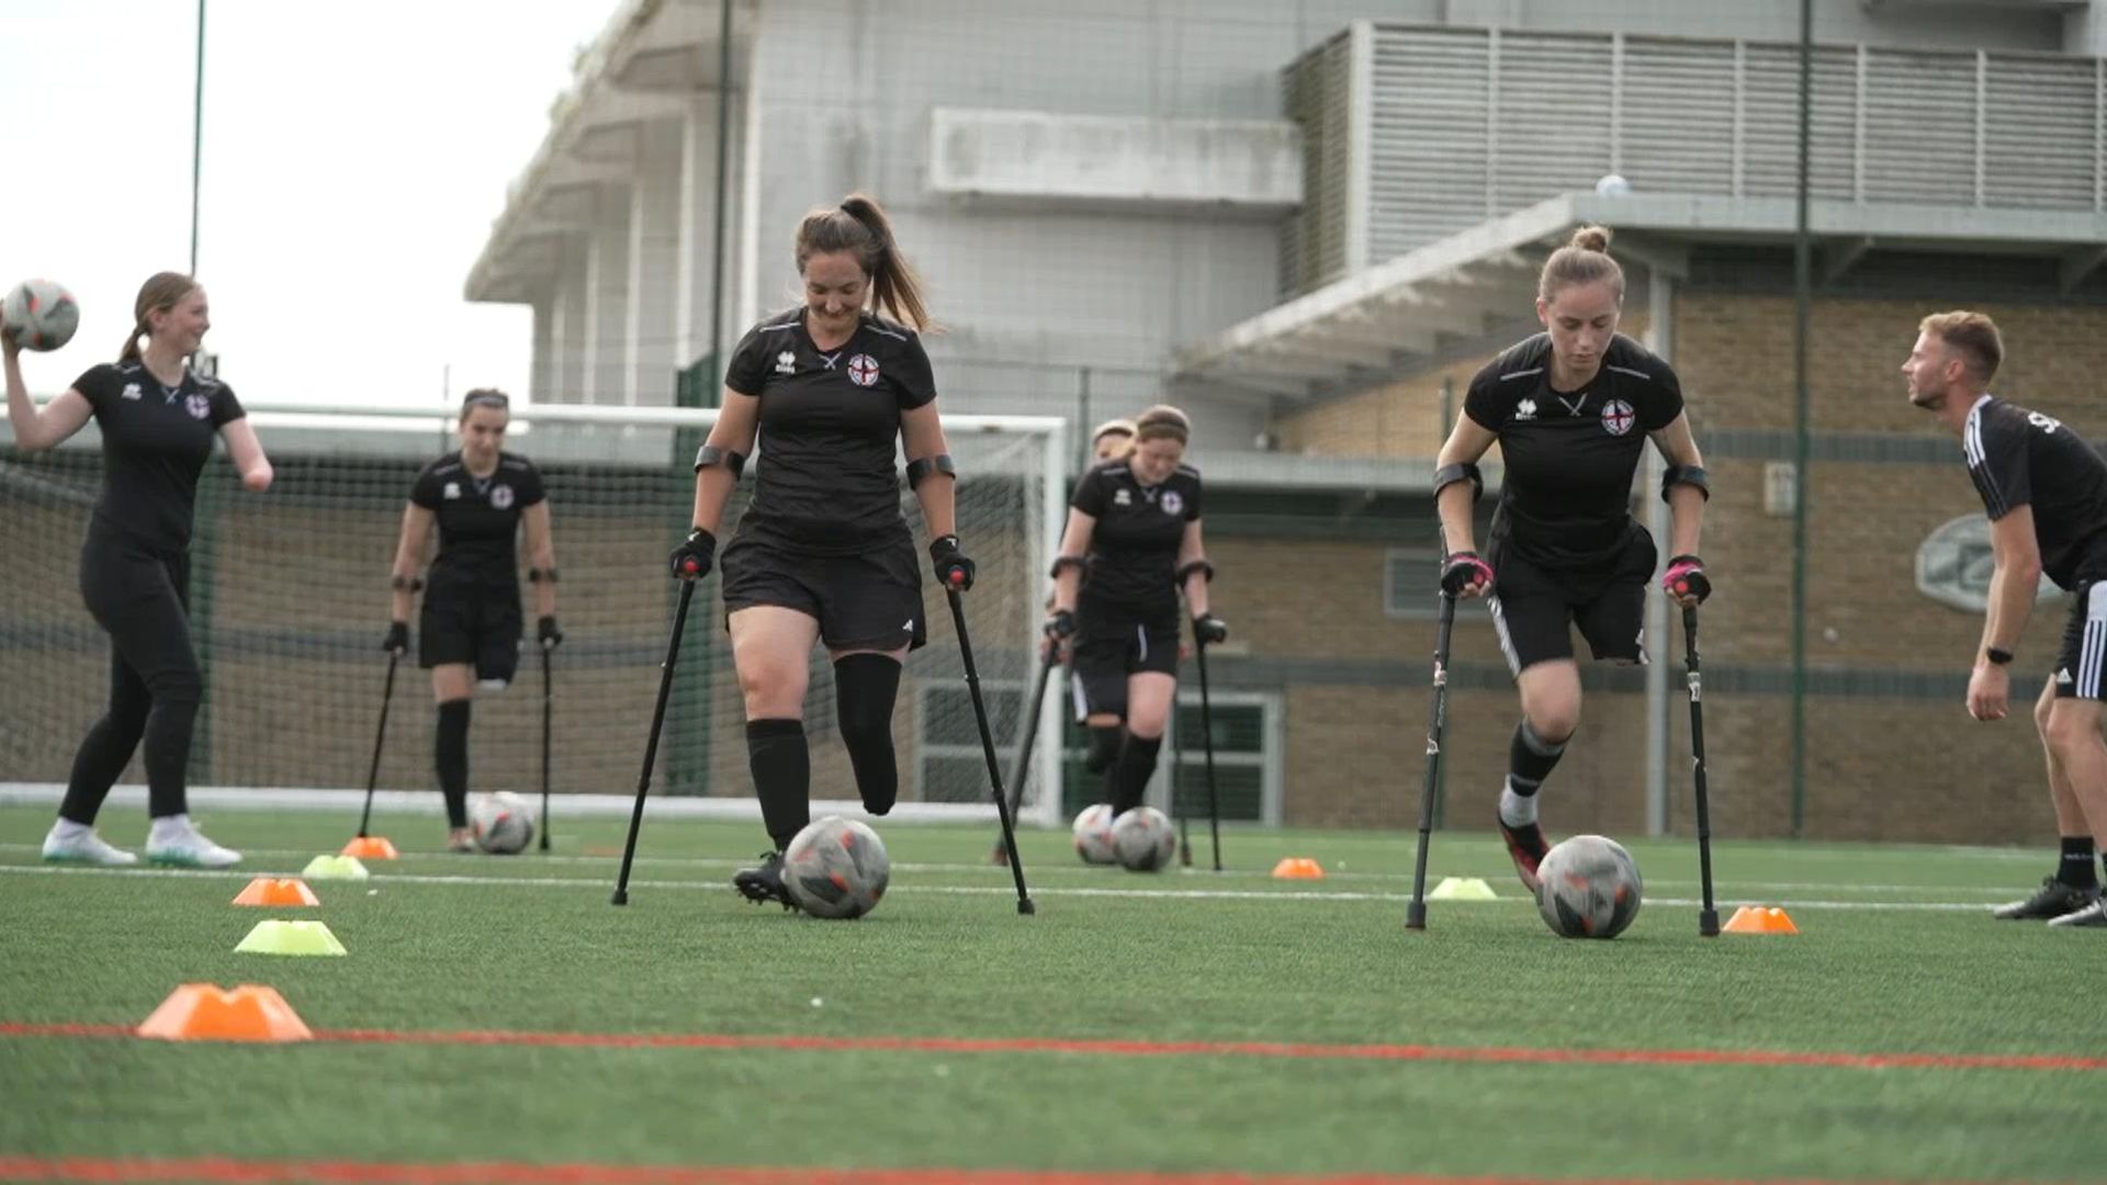
<path id="1" fill-rule="evenodd" d="M 1485 607 L 1507 668 L 1519 677 L 1538 662 L 1572 658 L 1572 626 L 1580 626 L 1597 660 L 1646 662 L 1646 584 L 1656 559 L 1654 538 L 1637 523 L 1622 552 L 1595 569 L 1540 567 L 1496 540 L 1485 557 L 1492 563 Z"/>

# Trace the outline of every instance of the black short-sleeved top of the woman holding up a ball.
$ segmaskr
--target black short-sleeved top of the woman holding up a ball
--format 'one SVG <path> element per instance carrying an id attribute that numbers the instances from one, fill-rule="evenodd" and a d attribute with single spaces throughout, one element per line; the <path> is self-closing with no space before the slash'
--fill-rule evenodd
<path id="1" fill-rule="evenodd" d="M 145 365 L 120 363 L 88 367 L 74 390 L 103 434 L 97 525 L 160 552 L 188 548 L 213 436 L 247 415 L 234 388 L 190 371 L 169 388 Z"/>

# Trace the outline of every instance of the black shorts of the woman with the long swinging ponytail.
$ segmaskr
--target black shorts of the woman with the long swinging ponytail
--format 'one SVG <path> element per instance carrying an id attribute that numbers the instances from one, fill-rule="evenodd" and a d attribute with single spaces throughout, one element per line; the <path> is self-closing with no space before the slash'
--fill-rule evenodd
<path id="1" fill-rule="evenodd" d="M 727 628 L 740 609 L 775 605 L 815 618 L 828 649 L 919 649 L 929 641 L 921 559 L 910 538 L 858 555 L 811 555 L 742 531 L 718 569 L 725 574 Z"/>

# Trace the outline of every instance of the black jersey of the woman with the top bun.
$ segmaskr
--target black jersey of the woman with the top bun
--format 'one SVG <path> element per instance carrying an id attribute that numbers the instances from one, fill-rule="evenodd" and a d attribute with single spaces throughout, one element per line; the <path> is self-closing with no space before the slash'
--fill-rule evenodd
<path id="1" fill-rule="evenodd" d="M 1494 538 L 1547 567 L 1593 567 L 1622 552 L 1646 434 L 1683 413 L 1683 388 L 1618 333 L 1587 388 L 1553 390 L 1551 335 L 1538 333 L 1481 369 L 1462 409 L 1500 436 Z"/>

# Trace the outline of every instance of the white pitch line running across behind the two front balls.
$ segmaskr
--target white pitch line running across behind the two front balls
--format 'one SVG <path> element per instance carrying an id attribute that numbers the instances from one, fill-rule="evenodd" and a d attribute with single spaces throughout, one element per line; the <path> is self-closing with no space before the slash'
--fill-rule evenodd
<path id="1" fill-rule="evenodd" d="M 272 871 L 217 871 L 217 869 L 80 869 L 61 865 L 0 865 L 0 873 L 44 873 L 44 875 L 74 875 L 74 877 L 190 877 L 190 879 L 244 879 L 244 877 L 293 877 L 299 873 L 272 873 Z M 461 875 L 421 875 L 421 873 L 388 873 L 375 875 L 365 881 L 318 881 L 324 888 L 337 886 L 497 886 L 497 888 L 592 888 L 605 890 L 609 881 L 605 879 L 582 879 L 582 877 L 461 877 Z M 632 888 L 666 888 L 666 890 L 708 890 L 718 892 L 723 886 L 714 881 L 630 881 Z M 946 896 L 1013 896 L 1016 890 L 1007 886 L 891 886 L 889 892 L 908 894 L 946 894 Z M 1376 900 L 1376 902 L 1405 902 L 1412 900 L 1410 894 L 1401 892 L 1355 892 L 1355 890 L 1298 890 L 1298 892 L 1262 892 L 1262 890 L 1169 890 L 1169 888 L 1039 888 L 1037 896 L 1110 896 L 1110 898 L 1174 898 L 1174 900 Z M 1694 898 L 1648 898 L 1656 907 L 1688 907 L 1698 905 Z M 1456 902 L 1456 905 L 1481 905 L 1481 902 Z M 1521 896 L 1502 896 L 1494 905 L 1532 905 Z M 1719 907 L 1734 905 L 1776 905 L 1787 909 L 1854 909 L 1854 911 L 1875 911 L 1875 913 L 1983 913 L 1981 902 L 1941 902 L 1941 900 L 1732 900 L 1719 898 Z"/>

